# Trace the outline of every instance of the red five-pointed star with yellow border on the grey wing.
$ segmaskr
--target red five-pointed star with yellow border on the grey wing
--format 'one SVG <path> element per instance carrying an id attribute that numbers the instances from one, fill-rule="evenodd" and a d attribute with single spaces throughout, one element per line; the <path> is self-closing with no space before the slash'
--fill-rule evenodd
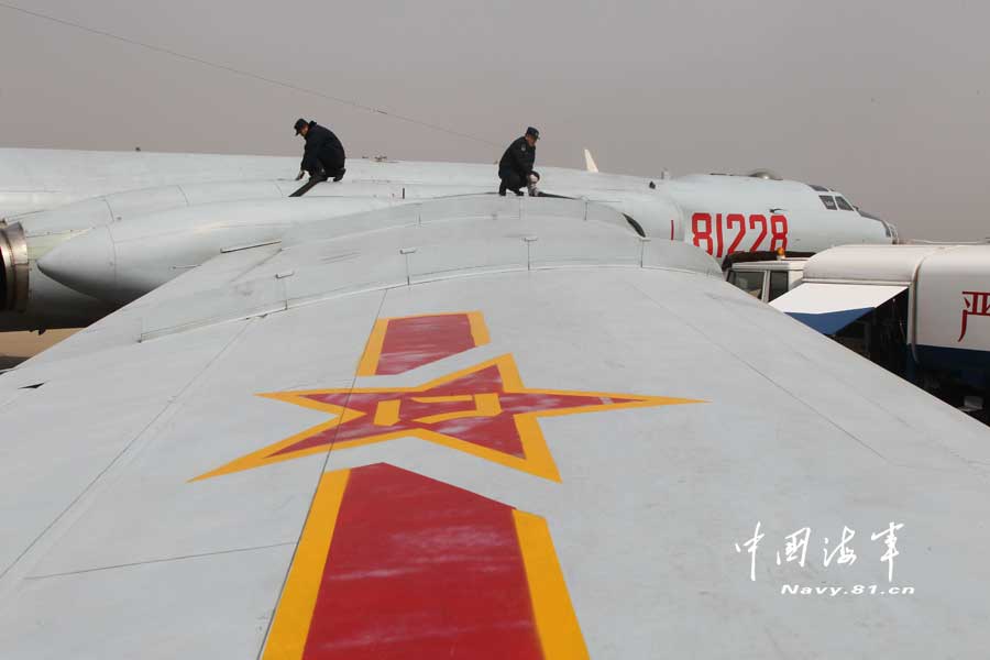
<path id="1" fill-rule="evenodd" d="M 343 388 L 262 394 L 323 410 L 333 418 L 237 459 L 208 479 L 327 451 L 415 437 L 560 481 L 537 419 L 700 403 L 693 399 L 529 389 L 512 355 L 503 355 L 418 387 Z"/>

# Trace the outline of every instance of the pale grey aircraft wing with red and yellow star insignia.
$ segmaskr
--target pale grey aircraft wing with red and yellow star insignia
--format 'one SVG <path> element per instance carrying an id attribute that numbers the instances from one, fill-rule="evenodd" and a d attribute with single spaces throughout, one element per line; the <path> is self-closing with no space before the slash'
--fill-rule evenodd
<path id="1" fill-rule="evenodd" d="M 990 642 L 987 429 L 582 201 L 219 255 L 0 376 L 0 429 L 4 658 Z"/>

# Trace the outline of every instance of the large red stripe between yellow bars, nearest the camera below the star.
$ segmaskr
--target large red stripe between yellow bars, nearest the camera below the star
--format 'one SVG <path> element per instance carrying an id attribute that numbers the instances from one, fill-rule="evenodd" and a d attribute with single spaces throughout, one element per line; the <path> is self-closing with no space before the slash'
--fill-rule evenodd
<path id="1" fill-rule="evenodd" d="M 386 464 L 351 472 L 306 659 L 540 659 L 513 508 Z"/>

